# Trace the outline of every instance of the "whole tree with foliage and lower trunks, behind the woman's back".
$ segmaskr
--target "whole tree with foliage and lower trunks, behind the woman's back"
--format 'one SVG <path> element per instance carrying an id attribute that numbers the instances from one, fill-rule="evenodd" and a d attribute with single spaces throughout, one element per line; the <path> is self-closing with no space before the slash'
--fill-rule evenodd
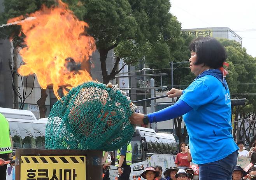
<path id="1" fill-rule="evenodd" d="M 231 98 L 246 98 L 245 106 L 237 106 L 233 108 L 234 129 L 233 136 L 238 139 L 246 139 L 250 146 L 256 139 L 255 132 L 255 113 L 256 113 L 256 58 L 246 53 L 246 49 L 242 48 L 240 43 L 228 39 L 219 39 L 227 51 L 228 62 L 230 63 L 229 75 L 227 82 L 230 87 Z M 249 120 L 245 120 L 249 119 Z M 238 127 L 238 122 L 240 125 Z M 245 128 L 245 123 L 248 123 Z M 238 127 L 238 134 L 237 132 Z M 250 140 L 252 133 L 252 141 Z"/>

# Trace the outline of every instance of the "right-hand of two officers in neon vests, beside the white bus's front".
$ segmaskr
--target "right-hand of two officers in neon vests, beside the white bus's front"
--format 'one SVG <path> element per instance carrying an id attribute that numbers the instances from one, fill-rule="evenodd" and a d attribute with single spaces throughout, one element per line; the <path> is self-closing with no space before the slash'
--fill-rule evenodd
<path id="1" fill-rule="evenodd" d="M 118 180 L 129 180 L 132 165 L 132 145 L 131 143 L 117 150 L 116 166 L 118 170 Z"/>

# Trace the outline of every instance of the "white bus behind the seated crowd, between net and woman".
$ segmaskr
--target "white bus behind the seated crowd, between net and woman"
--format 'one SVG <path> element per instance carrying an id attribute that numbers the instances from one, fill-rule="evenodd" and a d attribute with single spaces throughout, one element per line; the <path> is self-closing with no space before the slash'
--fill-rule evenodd
<path id="1" fill-rule="evenodd" d="M 147 166 L 165 169 L 175 166 L 177 144 L 172 134 L 156 133 L 153 129 L 136 127 L 132 137 L 132 165 L 130 180 L 138 179 Z M 114 153 L 116 155 L 116 153 Z M 117 168 L 110 166 L 110 179 L 117 177 Z M 143 180 L 144 178 L 141 177 Z"/>

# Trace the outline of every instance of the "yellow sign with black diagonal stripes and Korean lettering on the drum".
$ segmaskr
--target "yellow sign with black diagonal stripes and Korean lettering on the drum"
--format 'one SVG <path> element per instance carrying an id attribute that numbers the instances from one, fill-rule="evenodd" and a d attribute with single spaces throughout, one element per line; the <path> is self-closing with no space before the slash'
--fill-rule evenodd
<path id="1" fill-rule="evenodd" d="M 85 156 L 21 156 L 21 180 L 86 180 Z"/>

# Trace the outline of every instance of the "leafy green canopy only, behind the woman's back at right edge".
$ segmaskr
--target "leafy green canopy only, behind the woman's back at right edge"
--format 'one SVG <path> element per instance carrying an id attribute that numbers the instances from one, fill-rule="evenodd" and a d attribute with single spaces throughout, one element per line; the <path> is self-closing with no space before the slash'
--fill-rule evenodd
<path id="1" fill-rule="evenodd" d="M 248 104 L 253 105 L 255 111 L 255 95 L 250 94 L 256 93 L 256 58 L 248 55 L 246 49 L 236 41 L 228 39 L 219 39 L 219 41 L 226 48 L 230 63 L 226 79 L 230 87 L 231 98 L 248 99 Z"/>

